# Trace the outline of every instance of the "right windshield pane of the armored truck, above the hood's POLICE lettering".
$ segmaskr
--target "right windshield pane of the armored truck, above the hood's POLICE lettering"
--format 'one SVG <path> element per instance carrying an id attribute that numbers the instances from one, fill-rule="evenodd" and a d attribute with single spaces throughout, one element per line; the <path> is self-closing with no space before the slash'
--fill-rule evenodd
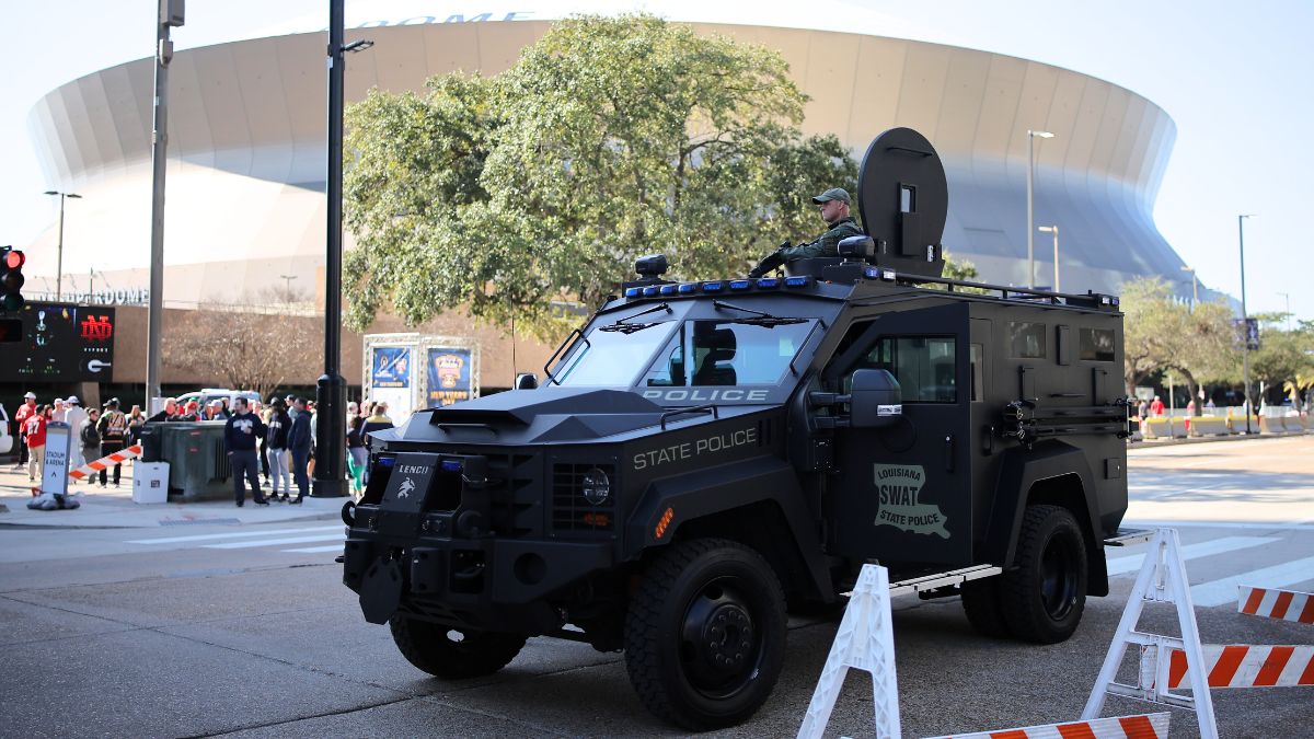
<path id="1" fill-rule="evenodd" d="M 816 320 L 783 325 L 756 323 L 752 318 L 685 321 L 640 385 L 774 385 L 815 325 Z"/>

